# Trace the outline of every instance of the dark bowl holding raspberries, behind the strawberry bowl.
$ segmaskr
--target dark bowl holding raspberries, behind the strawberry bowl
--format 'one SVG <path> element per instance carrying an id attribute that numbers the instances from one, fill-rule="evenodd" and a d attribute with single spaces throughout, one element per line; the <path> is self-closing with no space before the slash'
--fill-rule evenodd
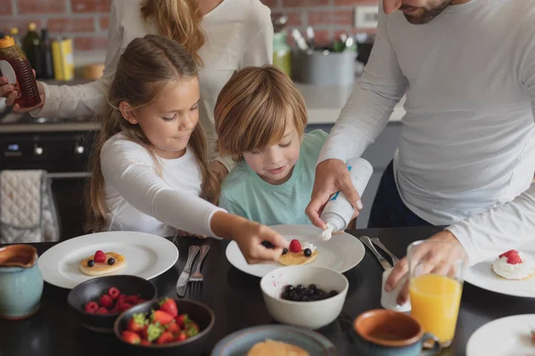
<path id="1" fill-rule="evenodd" d="M 86 280 L 67 296 L 70 309 L 85 328 L 112 333 L 121 312 L 156 298 L 156 286 L 146 279 L 114 275 Z"/>

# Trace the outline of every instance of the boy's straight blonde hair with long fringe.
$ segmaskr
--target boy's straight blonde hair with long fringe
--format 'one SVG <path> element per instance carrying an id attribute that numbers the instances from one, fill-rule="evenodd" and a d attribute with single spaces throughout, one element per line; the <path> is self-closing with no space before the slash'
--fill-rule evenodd
<path id="1" fill-rule="evenodd" d="M 237 71 L 219 93 L 214 115 L 219 153 L 235 159 L 279 142 L 290 122 L 300 137 L 307 125 L 299 90 L 270 65 Z"/>

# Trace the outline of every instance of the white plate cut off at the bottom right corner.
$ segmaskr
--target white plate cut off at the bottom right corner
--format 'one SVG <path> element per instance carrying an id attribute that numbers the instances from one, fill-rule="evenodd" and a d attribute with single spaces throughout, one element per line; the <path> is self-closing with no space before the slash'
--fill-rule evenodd
<path id="1" fill-rule="evenodd" d="M 531 341 L 531 328 L 535 328 L 535 314 L 490 321 L 470 336 L 466 356 L 533 356 L 535 344 Z"/>

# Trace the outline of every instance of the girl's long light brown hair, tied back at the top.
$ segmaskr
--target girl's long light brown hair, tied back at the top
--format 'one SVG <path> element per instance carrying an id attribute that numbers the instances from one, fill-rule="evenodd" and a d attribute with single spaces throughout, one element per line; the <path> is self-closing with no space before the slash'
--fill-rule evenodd
<path id="1" fill-rule="evenodd" d="M 151 153 L 155 163 L 159 163 L 151 142 L 147 140 L 140 126 L 132 125 L 122 117 L 119 103 L 127 101 L 133 109 L 141 108 L 156 99 L 169 82 L 196 77 L 197 66 L 192 55 L 175 40 L 147 35 L 128 44 L 120 56 L 115 77 L 111 82 L 107 98 L 109 105 L 106 105 L 105 113 L 99 119 L 102 126 L 91 157 L 92 177 L 86 198 L 86 231 L 103 231 L 106 228 L 106 214 L 109 209 L 104 196 L 100 155 L 103 144 L 111 136 L 124 134 L 128 140 L 143 145 Z M 206 139 L 201 125 L 197 125 L 193 130 L 188 146 L 192 148 L 201 169 L 202 198 L 216 203 L 218 184 L 209 170 Z"/>

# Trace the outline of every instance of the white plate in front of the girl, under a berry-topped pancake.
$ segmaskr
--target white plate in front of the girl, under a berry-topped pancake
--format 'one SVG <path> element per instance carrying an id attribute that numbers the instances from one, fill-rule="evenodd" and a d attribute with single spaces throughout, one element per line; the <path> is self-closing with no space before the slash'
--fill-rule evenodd
<path id="1" fill-rule="evenodd" d="M 37 260 L 43 279 L 62 288 L 73 288 L 95 278 L 82 273 L 78 264 L 97 250 L 124 255 L 127 265 L 112 274 L 152 279 L 169 270 L 178 259 L 178 249 L 168 239 L 136 231 L 98 232 L 68 239 L 45 251 Z"/>

